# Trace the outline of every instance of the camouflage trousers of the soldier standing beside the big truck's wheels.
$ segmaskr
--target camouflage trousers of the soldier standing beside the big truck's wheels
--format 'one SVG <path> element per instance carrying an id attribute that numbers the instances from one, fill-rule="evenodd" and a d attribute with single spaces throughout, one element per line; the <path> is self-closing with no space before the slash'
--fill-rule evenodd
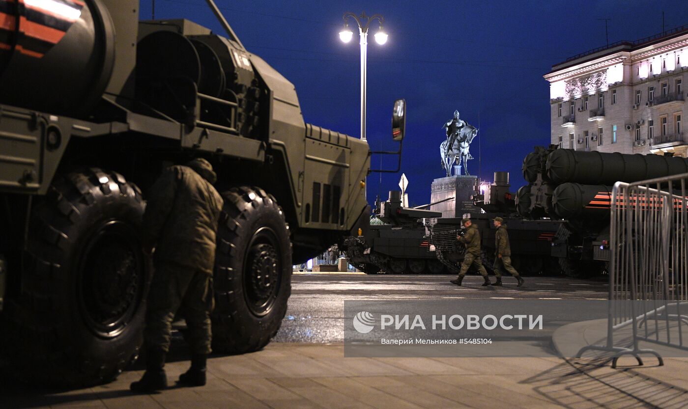
<path id="1" fill-rule="evenodd" d="M 186 319 L 192 354 L 211 352 L 213 276 L 171 263 L 155 263 L 148 294 L 144 339 L 146 345 L 169 351 L 175 313 Z"/>

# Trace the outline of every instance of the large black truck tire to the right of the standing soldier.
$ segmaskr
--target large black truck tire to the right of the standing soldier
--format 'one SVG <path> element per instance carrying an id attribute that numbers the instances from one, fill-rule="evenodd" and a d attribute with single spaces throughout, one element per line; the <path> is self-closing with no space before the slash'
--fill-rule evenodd
<path id="1" fill-rule="evenodd" d="M 213 351 L 258 351 L 277 335 L 291 294 L 289 226 L 260 188 L 222 194 L 217 231 Z"/>

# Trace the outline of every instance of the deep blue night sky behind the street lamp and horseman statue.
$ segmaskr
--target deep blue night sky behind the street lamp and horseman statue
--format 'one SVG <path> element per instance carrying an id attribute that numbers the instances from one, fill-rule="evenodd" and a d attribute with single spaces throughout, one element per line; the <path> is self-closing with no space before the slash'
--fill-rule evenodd
<path id="1" fill-rule="evenodd" d="M 359 136 L 358 32 L 342 43 L 342 15 L 385 17 L 385 45 L 368 44 L 367 137 L 372 149 L 392 150 L 391 111 L 407 100 L 402 172 L 411 206 L 428 203 L 430 184 L 444 176 L 442 124 L 458 109 L 480 128 L 469 173 L 492 179 L 510 172 L 511 190 L 524 185 L 523 158 L 550 142 L 551 66 L 609 42 L 636 40 L 688 24 L 688 1 L 268 1 L 216 0 L 249 52 L 294 83 L 306 122 Z M 142 19 L 151 0 L 141 1 Z M 155 18 L 186 18 L 222 33 L 202 0 L 157 0 Z M 352 27 L 352 25 L 354 25 Z M 350 21 L 355 28 L 355 22 Z M 383 166 L 396 166 L 385 159 Z M 373 167 L 380 164 L 374 157 Z M 398 189 L 399 174 L 368 178 L 368 199 Z"/>

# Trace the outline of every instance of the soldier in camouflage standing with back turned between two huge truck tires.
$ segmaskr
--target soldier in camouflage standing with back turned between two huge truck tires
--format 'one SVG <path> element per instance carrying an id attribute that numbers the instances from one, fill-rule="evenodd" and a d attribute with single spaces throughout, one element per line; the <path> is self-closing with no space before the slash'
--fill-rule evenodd
<path id="1" fill-rule="evenodd" d="M 166 388 L 165 355 L 171 323 L 178 311 L 189 327 L 191 368 L 180 383 L 206 384 L 206 359 L 211 352 L 215 236 L 222 197 L 217 176 L 205 159 L 164 170 L 151 187 L 143 217 L 142 245 L 153 254 L 155 272 L 148 295 L 144 340 L 146 373 L 131 384 L 135 392 Z M 153 252 L 153 248 L 155 249 Z"/>

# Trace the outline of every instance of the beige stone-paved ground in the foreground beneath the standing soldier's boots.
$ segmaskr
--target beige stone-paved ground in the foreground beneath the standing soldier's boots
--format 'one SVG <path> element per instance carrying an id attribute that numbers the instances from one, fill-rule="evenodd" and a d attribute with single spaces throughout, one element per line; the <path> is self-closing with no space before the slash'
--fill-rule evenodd
<path id="1" fill-rule="evenodd" d="M 186 371 L 183 359 L 166 365 L 171 384 Z M 614 370 L 603 358 L 345 358 L 342 344 L 273 342 L 256 353 L 211 358 L 208 384 L 200 388 L 133 395 L 129 383 L 142 374 L 136 370 L 80 390 L 0 386 L 0 408 L 685 408 L 688 359 L 652 365 Z"/>

